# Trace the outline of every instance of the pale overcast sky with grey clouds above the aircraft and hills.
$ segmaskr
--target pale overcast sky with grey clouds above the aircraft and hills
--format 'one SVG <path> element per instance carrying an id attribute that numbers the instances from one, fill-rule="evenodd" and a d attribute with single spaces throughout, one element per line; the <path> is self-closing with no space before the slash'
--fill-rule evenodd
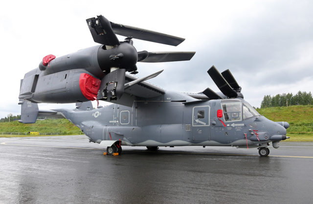
<path id="1" fill-rule="evenodd" d="M 191 61 L 138 62 L 137 77 L 165 90 L 219 91 L 206 73 L 230 69 L 245 100 L 260 107 L 264 95 L 313 92 L 313 1 L 6 1 L 0 8 L 0 118 L 20 114 L 20 80 L 43 57 L 96 45 L 86 19 L 112 22 L 185 38 L 179 46 L 134 40 L 137 51 L 196 51 Z M 124 37 L 119 37 L 122 41 Z M 40 104 L 40 109 L 74 108 Z"/>

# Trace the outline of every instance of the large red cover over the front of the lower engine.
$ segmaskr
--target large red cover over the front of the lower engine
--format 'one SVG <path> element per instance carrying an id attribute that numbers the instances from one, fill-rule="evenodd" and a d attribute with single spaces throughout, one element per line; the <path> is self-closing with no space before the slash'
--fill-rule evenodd
<path id="1" fill-rule="evenodd" d="M 101 80 L 89 74 L 82 73 L 79 77 L 79 87 L 86 99 L 94 101 L 97 99 Z"/>

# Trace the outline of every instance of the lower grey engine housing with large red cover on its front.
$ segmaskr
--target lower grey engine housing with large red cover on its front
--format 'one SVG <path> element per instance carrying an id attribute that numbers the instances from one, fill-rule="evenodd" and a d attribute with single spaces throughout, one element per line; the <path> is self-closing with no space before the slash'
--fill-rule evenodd
<path id="1" fill-rule="evenodd" d="M 46 76 L 31 75 L 22 80 L 21 99 L 32 102 L 72 103 L 97 98 L 101 81 L 85 70 L 67 70 Z"/>

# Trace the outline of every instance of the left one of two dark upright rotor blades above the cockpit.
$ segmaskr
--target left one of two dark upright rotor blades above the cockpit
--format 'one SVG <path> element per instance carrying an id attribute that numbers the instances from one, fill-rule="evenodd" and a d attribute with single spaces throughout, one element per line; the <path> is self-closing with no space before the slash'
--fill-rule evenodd
<path id="1" fill-rule="evenodd" d="M 236 91 L 234 91 L 230 85 L 226 82 L 221 73 L 213 65 L 207 73 L 210 75 L 217 87 L 222 91 L 222 93 L 227 97 L 237 97 Z"/>

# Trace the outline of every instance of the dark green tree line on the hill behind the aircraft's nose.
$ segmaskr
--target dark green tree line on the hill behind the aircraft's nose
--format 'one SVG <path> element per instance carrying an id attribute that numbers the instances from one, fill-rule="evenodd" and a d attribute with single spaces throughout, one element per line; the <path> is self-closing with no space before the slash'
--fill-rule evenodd
<path id="1" fill-rule="evenodd" d="M 261 102 L 261 108 L 287 106 L 288 105 L 312 105 L 313 98 L 311 91 L 309 93 L 298 91 L 297 94 L 277 94 L 275 96 L 266 95 Z"/>

